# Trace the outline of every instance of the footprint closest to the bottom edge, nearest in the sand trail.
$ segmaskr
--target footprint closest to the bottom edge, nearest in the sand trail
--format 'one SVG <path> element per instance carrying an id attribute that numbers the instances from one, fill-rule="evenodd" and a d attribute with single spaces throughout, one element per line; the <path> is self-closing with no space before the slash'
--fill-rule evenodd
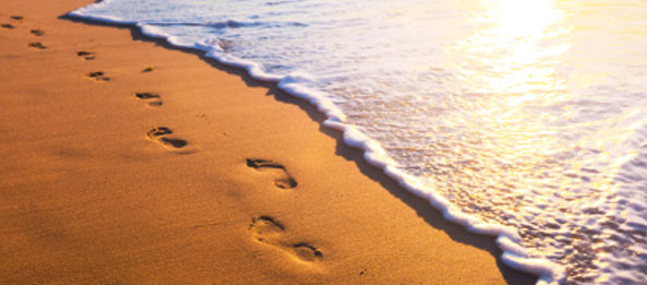
<path id="1" fill-rule="evenodd" d="M 254 240 L 279 248 L 301 262 L 314 262 L 323 258 L 323 253 L 309 244 L 289 244 L 283 241 L 285 227 L 269 216 L 252 218 L 249 229 L 252 230 L 252 238 Z"/>

